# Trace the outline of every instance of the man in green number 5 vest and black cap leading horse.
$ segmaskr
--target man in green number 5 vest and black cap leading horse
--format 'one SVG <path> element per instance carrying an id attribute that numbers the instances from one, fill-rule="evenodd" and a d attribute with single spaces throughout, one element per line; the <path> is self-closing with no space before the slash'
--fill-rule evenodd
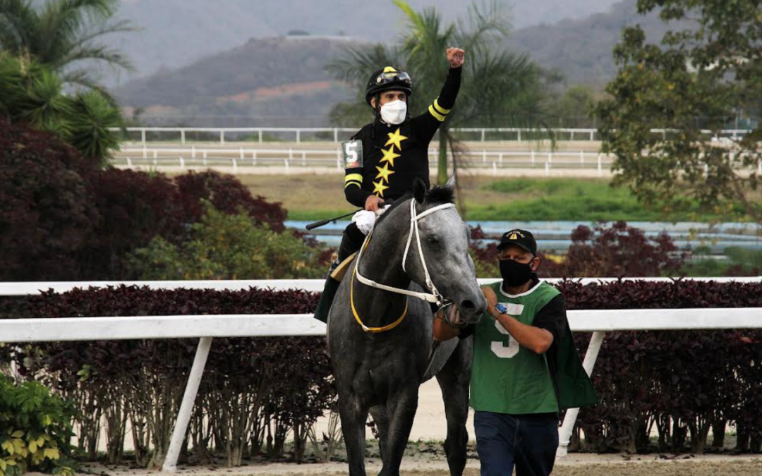
<path id="1" fill-rule="evenodd" d="M 502 282 L 482 286 L 488 306 L 477 324 L 454 327 L 440 315 L 434 339 L 473 335 L 470 406 L 482 476 L 550 474 L 559 411 L 597 404 L 571 337 L 564 298 L 540 281 L 530 232 L 498 244 Z M 456 311 L 455 311 L 456 313 Z M 458 324 L 458 319 L 450 321 Z"/>

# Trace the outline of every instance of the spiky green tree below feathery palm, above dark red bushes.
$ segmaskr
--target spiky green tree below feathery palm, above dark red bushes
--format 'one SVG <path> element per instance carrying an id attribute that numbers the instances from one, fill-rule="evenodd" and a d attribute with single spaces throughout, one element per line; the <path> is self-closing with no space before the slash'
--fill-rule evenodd
<path id="1" fill-rule="evenodd" d="M 101 91 L 69 96 L 62 90 L 59 76 L 45 65 L 0 52 L 0 114 L 56 133 L 87 161 L 106 166 L 119 147 L 109 130 L 122 126 L 119 110 Z"/>

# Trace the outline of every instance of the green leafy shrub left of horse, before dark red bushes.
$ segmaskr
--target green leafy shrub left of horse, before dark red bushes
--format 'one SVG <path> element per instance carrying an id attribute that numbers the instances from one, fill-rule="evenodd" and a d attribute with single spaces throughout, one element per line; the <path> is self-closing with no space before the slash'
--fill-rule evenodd
<path id="1" fill-rule="evenodd" d="M 293 232 L 277 233 L 243 211 L 226 215 L 205 203 L 188 241 L 154 238 L 132 254 L 129 266 L 142 280 L 315 278 L 325 273 L 320 254 Z"/>

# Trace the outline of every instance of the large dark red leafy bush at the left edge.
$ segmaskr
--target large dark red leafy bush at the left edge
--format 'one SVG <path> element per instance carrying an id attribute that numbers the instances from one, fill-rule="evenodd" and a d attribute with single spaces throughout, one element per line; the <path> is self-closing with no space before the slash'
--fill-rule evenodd
<path id="1" fill-rule="evenodd" d="M 91 172 L 53 134 L 0 117 L 0 281 L 82 279 L 78 253 L 101 219 Z"/>

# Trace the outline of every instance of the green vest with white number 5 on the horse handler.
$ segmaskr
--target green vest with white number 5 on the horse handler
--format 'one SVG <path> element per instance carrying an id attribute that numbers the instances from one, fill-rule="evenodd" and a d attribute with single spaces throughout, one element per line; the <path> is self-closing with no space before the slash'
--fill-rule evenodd
<path id="1" fill-rule="evenodd" d="M 539 309 L 560 293 L 548 283 L 540 282 L 523 294 L 508 297 L 502 293 L 501 284 L 489 285 L 498 302 L 507 306 L 507 314 L 527 325 L 533 323 Z M 597 395 L 582 368 L 568 323 L 564 337 L 555 344 L 558 369 L 554 377 L 560 402 L 555 398 L 545 354 L 521 347 L 485 312 L 474 331 L 471 407 L 503 414 L 536 414 L 596 404 Z"/>

